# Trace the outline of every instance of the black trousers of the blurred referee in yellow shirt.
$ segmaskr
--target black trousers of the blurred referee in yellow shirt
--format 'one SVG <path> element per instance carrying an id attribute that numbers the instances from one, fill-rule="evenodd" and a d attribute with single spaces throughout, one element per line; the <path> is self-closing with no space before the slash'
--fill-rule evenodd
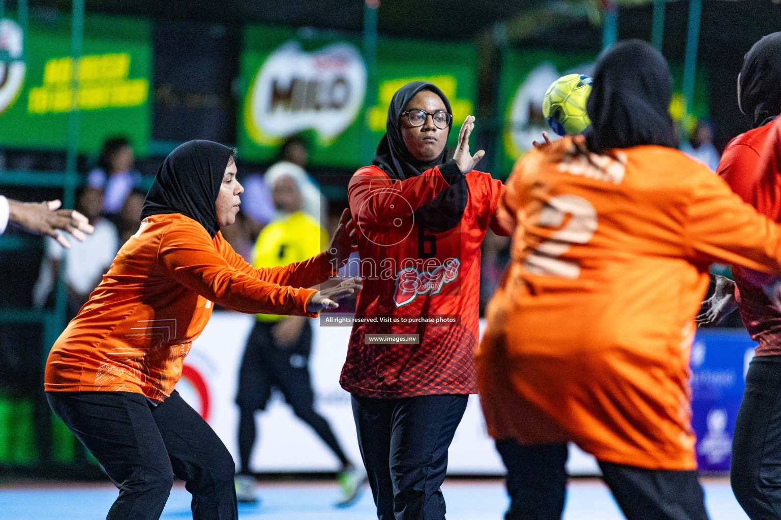
<path id="1" fill-rule="evenodd" d="M 236 404 L 239 405 L 239 457 L 241 473 L 250 474 L 249 462 L 255 447 L 257 426 L 255 410 L 265 410 L 271 389 L 277 387 L 299 419 L 330 447 L 342 465 L 350 461 L 339 445 L 325 417 L 315 410 L 315 391 L 309 375 L 309 355 L 312 353 L 312 324 L 307 320 L 301 336 L 293 345 L 276 345 L 272 328 L 276 323 L 255 322 L 244 348 L 239 369 Z"/>

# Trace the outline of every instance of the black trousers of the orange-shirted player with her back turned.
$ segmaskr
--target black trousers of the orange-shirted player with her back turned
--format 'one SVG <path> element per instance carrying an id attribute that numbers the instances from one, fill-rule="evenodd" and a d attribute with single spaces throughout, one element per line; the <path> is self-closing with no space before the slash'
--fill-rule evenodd
<path id="1" fill-rule="evenodd" d="M 497 440 L 507 467 L 506 520 L 559 520 L 567 487 L 566 444 Z M 672 471 L 599 462 L 604 483 L 629 520 L 708 520 L 696 471 Z"/>

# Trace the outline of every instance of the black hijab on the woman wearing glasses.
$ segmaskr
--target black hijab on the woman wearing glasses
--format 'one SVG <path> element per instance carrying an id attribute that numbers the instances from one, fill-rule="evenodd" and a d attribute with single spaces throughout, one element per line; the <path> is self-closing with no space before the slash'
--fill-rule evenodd
<path id="1" fill-rule="evenodd" d="M 415 210 L 415 219 L 419 221 L 419 225 L 433 232 L 445 232 L 455 228 L 464 216 L 469 189 L 466 178 L 455 161 L 448 160 L 448 147 L 444 147 L 439 157 L 429 162 L 418 161 L 407 150 L 404 138 L 401 136 L 399 119 L 406 104 L 421 90 L 430 90 L 437 94 L 442 99 L 448 114 L 453 114 L 450 101 L 435 85 L 425 81 L 407 83 L 397 90 L 391 99 L 385 135 L 380 140 L 372 164 L 382 169 L 391 179 L 399 180 L 416 177 L 434 166 L 440 166 L 440 173 L 450 186 L 443 189 L 430 203 Z M 448 136 L 451 128 L 452 123 L 448 128 Z"/>

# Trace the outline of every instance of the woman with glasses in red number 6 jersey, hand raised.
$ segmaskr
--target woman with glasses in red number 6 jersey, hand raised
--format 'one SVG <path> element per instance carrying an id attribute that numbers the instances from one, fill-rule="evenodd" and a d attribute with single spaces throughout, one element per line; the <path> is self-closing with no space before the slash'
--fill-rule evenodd
<path id="1" fill-rule="evenodd" d="M 489 226 L 506 235 L 494 218 L 501 182 L 473 170 L 483 151 L 469 154 L 472 116 L 448 159 L 452 119 L 441 90 L 408 83 L 348 188 L 365 288 L 341 385 L 383 520 L 444 518 L 448 447 L 476 392 L 480 242 Z"/>

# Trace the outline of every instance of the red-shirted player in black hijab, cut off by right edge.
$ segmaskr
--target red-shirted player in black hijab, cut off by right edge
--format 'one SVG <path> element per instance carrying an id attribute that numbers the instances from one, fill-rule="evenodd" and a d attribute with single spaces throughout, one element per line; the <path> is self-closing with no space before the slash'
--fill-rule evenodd
<path id="1" fill-rule="evenodd" d="M 781 33 L 763 37 L 744 57 L 738 76 L 740 111 L 752 129 L 724 149 L 717 172 L 759 213 L 781 222 Z M 746 374 L 746 389 L 735 422 L 730 481 L 751 520 L 781 518 L 781 312 L 762 288 L 766 275 L 733 267 L 735 284 L 718 277 L 706 302 L 715 322 L 734 310 L 758 342 Z M 725 289 L 726 288 L 726 289 Z M 718 290 L 722 289 L 722 290 Z"/>

